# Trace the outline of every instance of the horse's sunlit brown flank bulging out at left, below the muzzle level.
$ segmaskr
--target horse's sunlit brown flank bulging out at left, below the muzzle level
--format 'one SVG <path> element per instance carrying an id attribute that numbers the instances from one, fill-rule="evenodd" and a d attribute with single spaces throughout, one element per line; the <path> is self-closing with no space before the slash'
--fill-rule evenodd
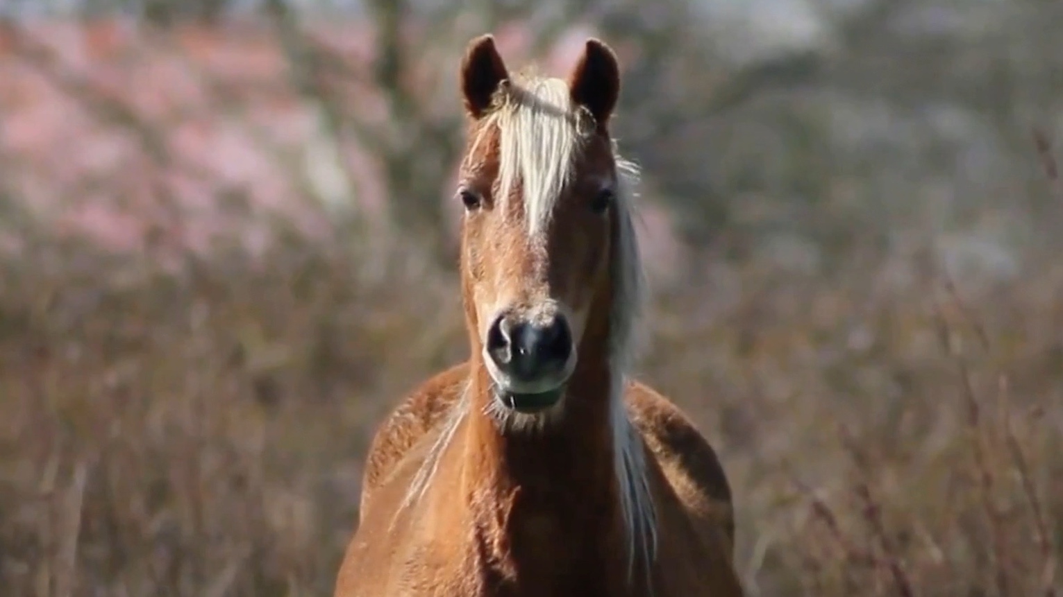
<path id="1" fill-rule="evenodd" d="M 437 373 L 407 394 L 384 419 L 366 454 L 360 512 L 366 511 L 370 494 L 450 411 L 460 396 L 468 372 L 469 363 L 460 363 Z"/>

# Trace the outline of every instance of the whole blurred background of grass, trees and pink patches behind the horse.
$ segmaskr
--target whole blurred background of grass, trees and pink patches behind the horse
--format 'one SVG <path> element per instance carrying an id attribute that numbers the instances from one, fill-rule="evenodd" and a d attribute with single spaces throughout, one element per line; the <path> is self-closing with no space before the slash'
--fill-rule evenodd
<path id="1" fill-rule="evenodd" d="M 4 596 L 331 595 L 466 356 L 468 40 L 618 52 L 640 376 L 750 596 L 1063 594 L 1063 4 L 0 2 Z"/>

